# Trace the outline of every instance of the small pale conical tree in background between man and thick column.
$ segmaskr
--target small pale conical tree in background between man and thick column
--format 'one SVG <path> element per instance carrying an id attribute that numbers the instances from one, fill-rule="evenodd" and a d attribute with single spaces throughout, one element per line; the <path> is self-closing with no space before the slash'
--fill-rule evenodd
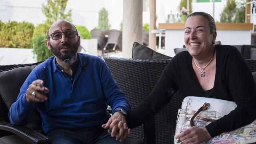
<path id="1" fill-rule="evenodd" d="M 110 25 L 108 25 L 108 11 L 102 8 L 99 12 L 98 28 L 101 30 L 109 30 Z"/>

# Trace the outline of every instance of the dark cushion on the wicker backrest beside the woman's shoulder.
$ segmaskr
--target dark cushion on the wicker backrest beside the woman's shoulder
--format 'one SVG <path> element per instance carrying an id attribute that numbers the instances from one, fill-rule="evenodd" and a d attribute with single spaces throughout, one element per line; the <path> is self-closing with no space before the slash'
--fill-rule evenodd
<path id="1" fill-rule="evenodd" d="M 134 42 L 132 47 L 132 58 L 136 59 L 172 59 L 170 56 L 166 56 L 164 54 L 160 54 L 148 48 L 138 42 Z"/>

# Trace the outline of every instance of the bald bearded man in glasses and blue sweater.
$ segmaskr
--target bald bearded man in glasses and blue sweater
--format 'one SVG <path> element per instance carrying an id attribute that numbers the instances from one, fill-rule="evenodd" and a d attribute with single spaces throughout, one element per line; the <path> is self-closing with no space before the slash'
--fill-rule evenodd
<path id="1" fill-rule="evenodd" d="M 123 136 L 115 138 L 101 126 L 117 122 L 127 135 L 125 116 L 130 104 L 105 62 L 77 52 L 80 36 L 66 20 L 52 24 L 45 43 L 54 56 L 29 74 L 10 108 L 10 122 L 27 124 L 36 108 L 52 144 L 120 144 Z"/>

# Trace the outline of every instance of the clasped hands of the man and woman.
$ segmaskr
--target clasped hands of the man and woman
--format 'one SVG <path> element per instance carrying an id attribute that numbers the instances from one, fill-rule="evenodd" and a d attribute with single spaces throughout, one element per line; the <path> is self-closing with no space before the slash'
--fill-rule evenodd
<path id="1" fill-rule="evenodd" d="M 121 112 L 115 112 L 106 124 L 102 124 L 102 128 L 108 129 L 108 133 L 116 140 L 122 142 L 130 134 L 130 128 L 127 127 L 125 116 Z"/>

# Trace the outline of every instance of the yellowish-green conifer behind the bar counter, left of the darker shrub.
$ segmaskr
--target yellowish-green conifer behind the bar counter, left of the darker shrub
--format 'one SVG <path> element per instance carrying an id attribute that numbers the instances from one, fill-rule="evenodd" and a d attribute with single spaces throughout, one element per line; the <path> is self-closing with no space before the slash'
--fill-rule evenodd
<path id="1" fill-rule="evenodd" d="M 236 14 L 236 0 L 227 0 L 226 7 L 220 14 L 220 22 L 234 22 L 234 14 Z"/>

